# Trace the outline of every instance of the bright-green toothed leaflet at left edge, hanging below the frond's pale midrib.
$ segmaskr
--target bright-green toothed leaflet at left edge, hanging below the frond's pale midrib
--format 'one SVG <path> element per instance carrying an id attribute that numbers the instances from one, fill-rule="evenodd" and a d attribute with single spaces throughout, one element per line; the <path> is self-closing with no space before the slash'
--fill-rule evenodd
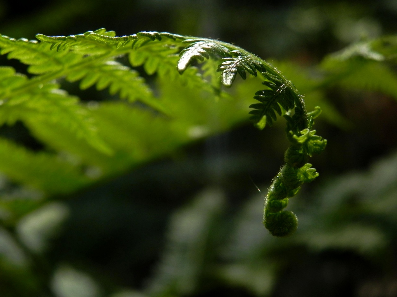
<path id="1" fill-rule="evenodd" d="M 78 104 L 78 98 L 59 89 L 58 84 L 44 84 L 30 93 L 12 95 L 12 90 L 29 84 L 26 76 L 15 73 L 12 67 L 0 67 L 0 123 L 13 124 L 17 120 L 35 119 L 48 124 L 62 125 L 76 133 L 103 153 L 110 148 L 98 137 L 85 109 Z"/>

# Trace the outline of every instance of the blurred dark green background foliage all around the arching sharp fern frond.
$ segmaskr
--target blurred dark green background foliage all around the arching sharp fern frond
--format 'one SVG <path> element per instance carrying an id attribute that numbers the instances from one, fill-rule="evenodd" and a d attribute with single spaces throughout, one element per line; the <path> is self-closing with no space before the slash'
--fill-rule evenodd
<path id="1" fill-rule="evenodd" d="M 114 103 L 114 118 L 131 116 L 122 114 L 117 97 L 60 82 L 98 109 L 99 128 L 114 133 L 106 141 L 126 152 L 107 160 L 81 148 L 83 159 L 98 164 L 86 168 L 73 151 L 64 153 L 73 146 L 60 139 L 53 143 L 57 158 L 80 166 L 83 179 L 68 168 L 50 171 L 51 179 L 42 168 L 41 183 L 33 185 L 1 175 L 0 295 L 397 296 L 395 59 L 360 67 L 330 63 L 338 57 L 331 53 L 351 44 L 396 34 L 396 17 L 395 0 L 0 1 L 0 32 L 14 38 L 106 27 L 118 36 L 156 30 L 235 43 L 282 70 L 309 110 L 324 109 L 316 129 L 328 139 L 326 151 L 312 160 L 320 177 L 291 200 L 297 232 L 273 238 L 262 226 L 263 197 L 250 177 L 265 190 L 287 141 L 283 120 L 264 131 L 247 120 L 258 81 L 233 86 L 233 107 L 222 103 L 230 98 L 218 98 L 218 115 L 212 101 L 177 111 L 212 112 L 209 123 L 217 128 L 199 125 L 189 140 L 173 139 L 161 119 L 143 112 L 134 117 L 152 125 L 150 135 L 132 120 L 110 127 L 114 119 L 98 104 Z M 1 62 L 26 70 L 4 56 Z M 164 82 L 161 90 L 172 100 L 167 87 Z M 191 95 L 199 102 L 200 93 Z M 24 162 L 54 150 L 40 142 L 46 127 L 37 125 L 0 127 L 2 138 L 27 148 L 8 147 L 2 162 L 10 152 Z M 147 139 L 147 147 L 137 148 L 133 135 Z"/>

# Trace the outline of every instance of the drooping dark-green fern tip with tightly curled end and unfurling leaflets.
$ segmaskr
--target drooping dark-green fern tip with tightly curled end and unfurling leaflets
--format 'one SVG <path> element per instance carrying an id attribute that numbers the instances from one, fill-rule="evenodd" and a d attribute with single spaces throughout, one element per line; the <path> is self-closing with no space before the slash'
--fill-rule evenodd
<path id="1" fill-rule="evenodd" d="M 187 41 L 187 40 L 186 40 Z M 201 48 L 200 48 L 201 46 Z M 229 52 L 225 52 L 225 48 Z M 312 164 L 307 163 L 308 157 L 324 150 L 327 141 L 315 135 L 312 130 L 313 120 L 321 109 L 316 107 L 313 112 L 306 112 L 304 101 L 295 86 L 288 81 L 276 68 L 259 59 L 255 55 L 240 48 L 216 41 L 198 41 L 181 51 L 178 70 L 183 71 L 192 59 L 204 60 L 210 58 L 209 53 L 216 53 L 222 57 L 218 71 L 222 71 L 222 84 L 231 86 L 237 73 L 246 78 L 246 71 L 256 76 L 257 70 L 267 79 L 262 82 L 266 89 L 257 91 L 254 98 L 260 103 L 252 104 L 251 119 L 259 129 L 266 124 L 272 125 L 284 113 L 287 120 L 287 138 L 291 146 L 285 152 L 285 165 L 274 177 L 266 196 L 263 223 L 274 236 L 292 234 L 298 226 L 298 219 L 291 211 L 283 209 L 288 199 L 295 196 L 303 183 L 311 182 L 318 176 Z M 290 116 L 290 110 L 294 114 Z"/>

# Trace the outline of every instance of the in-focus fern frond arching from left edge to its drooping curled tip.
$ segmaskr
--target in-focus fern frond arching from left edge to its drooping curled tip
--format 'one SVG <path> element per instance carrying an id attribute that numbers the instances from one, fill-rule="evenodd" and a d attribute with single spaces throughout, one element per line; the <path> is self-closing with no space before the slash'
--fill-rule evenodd
<path id="1" fill-rule="evenodd" d="M 273 179 L 266 196 L 264 225 L 274 236 L 286 236 L 296 230 L 297 217 L 291 211 L 283 209 L 287 206 L 288 199 L 297 194 L 302 183 L 310 182 L 318 176 L 316 169 L 311 168 L 307 160 L 325 148 L 326 140 L 315 135 L 315 130 L 312 129 L 313 119 L 320 114 L 320 108 L 306 112 L 302 96 L 295 86 L 270 63 L 233 44 L 167 32 L 139 32 L 117 37 L 114 31 L 98 29 L 71 36 L 37 34 L 36 37 L 39 42 L 0 36 L 1 54 L 7 53 L 8 58 L 19 59 L 29 65 L 28 72 L 34 74 L 31 78 L 18 78 L 6 69 L 0 71 L 5 78 L 15 80 L 13 84 L 3 84 L 0 100 L 20 102 L 25 93 L 40 93 L 41 89 L 48 89 L 50 93 L 62 93 L 58 85 L 50 87 L 50 84 L 53 80 L 64 77 L 70 82 L 80 80 L 82 89 L 94 84 L 97 89 L 109 88 L 110 93 L 119 92 L 121 98 L 142 101 L 152 109 L 172 116 L 167 107 L 154 97 L 136 70 L 115 61 L 122 55 L 128 55 L 133 67 L 142 65 L 148 74 L 157 73 L 173 79 L 185 78 L 186 83 L 193 87 L 200 86 L 209 90 L 213 86 L 193 66 L 196 62 L 205 62 L 206 59 L 217 61 L 219 64 L 216 71 L 220 72 L 219 80 L 225 87 L 233 84 L 237 74 L 243 79 L 246 79 L 247 72 L 263 77 L 264 89 L 257 91 L 254 96 L 260 103 L 250 106 L 253 109 L 250 112 L 251 119 L 257 128 L 263 129 L 266 124 L 271 126 L 276 121 L 277 114 L 283 115 L 287 120 L 287 138 L 291 142 L 285 153 L 285 165 Z M 183 75 L 179 76 L 178 72 Z M 44 96 L 45 92 L 41 93 Z M 58 104 L 54 96 L 44 97 L 48 97 L 48 105 Z M 37 97 L 23 100 L 22 102 L 29 103 L 25 105 L 33 112 L 42 112 Z M 12 111 L 14 105 L 6 107 Z M 69 105 L 78 109 L 76 102 Z M 15 118 L 23 120 L 23 114 L 15 114 Z M 4 116 L 2 120 L 4 122 Z M 75 118 L 74 122 L 81 125 L 76 126 L 74 123 L 75 126 L 71 129 L 80 131 L 85 127 L 86 131 L 93 131 L 87 126 L 89 119 L 84 116 Z M 99 150 L 111 153 L 94 132 L 90 133 L 86 132 L 83 137 L 87 137 Z"/>

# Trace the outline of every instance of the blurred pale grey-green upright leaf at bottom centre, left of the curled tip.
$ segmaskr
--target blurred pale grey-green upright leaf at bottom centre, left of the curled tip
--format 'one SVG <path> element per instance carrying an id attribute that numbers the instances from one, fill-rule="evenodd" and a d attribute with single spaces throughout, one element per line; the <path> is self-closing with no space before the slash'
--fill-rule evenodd
<path id="1" fill-rule="evenodd" d="M 214 245 L 213 228 L 224 208 L 223 193 L 207 189 L 172 216 L 164 255 L 145 290 L 148 296 L 188 295 L 197 290 L 211 258 L 205 251 Z"/>

